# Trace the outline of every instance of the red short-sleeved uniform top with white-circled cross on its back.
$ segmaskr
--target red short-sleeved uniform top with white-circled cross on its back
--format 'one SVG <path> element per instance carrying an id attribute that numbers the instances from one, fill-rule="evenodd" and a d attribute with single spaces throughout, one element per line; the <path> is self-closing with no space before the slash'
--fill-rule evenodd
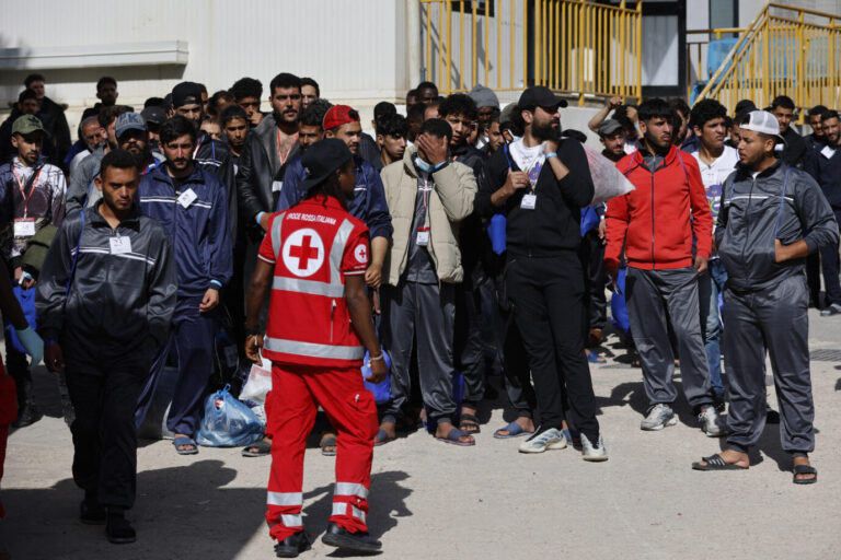
<path id="1" fill-rule="evenodd" d="M 368 267 L 368 228 L 332 197 L 272 215 L 260 258 L 275 266 L 263 354 L 274 362 L 358 368 L 345 276 Z"/>

